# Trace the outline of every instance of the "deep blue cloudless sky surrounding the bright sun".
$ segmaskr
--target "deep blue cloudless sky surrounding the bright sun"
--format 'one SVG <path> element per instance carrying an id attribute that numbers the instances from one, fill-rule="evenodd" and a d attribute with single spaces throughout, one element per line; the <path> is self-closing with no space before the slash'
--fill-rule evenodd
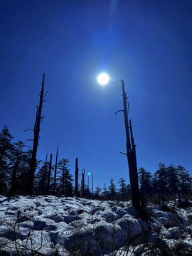
<path id="1" fill-rule="evenodd" d="M 0 0 L 0 127 L 14 141 L 32 132 L 46 73 L 38 159 L 53 153 L 95 176 L 129 181 L 119 79 L 130 100 L 137 164 L 192 174 L 192 2 L 189 0 Z M 110 82 L 102 87 L 97 75 Z M 28 142 L 28 145 L 32 145 Z"/>

